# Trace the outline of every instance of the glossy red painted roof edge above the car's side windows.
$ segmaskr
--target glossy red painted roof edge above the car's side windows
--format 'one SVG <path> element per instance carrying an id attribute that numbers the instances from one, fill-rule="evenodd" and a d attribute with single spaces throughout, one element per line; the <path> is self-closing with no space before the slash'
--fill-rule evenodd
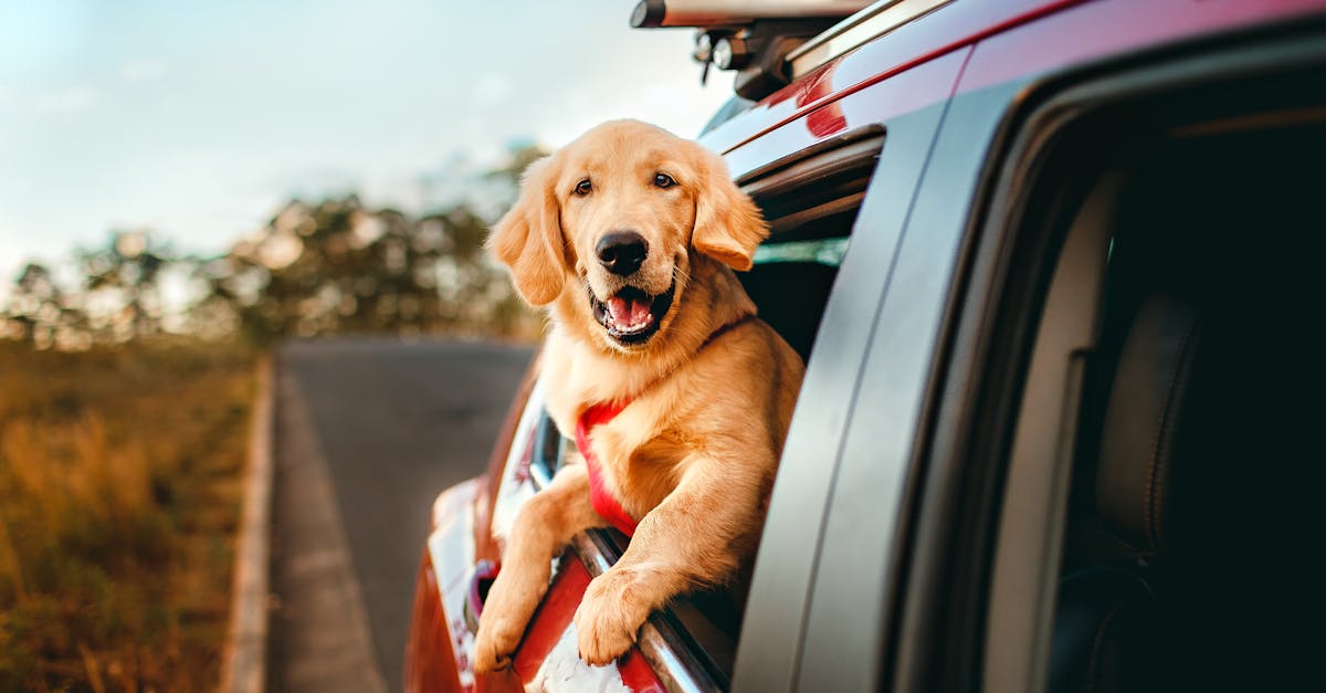
<path id="1" fill-rule="evenodd" d="M 841 56 L 733 117 L 703 141 L 724 154 L 794 121 L 815 131 L 814 112 L 919 65 L 992 37 L 1010 36 L 1000 50 L 983 50 L 981 76 L 963 80 L 979 89 L 1128 49 L 1252 27 L 1326 9 L 1322 0 L 963 0 L 898 27 Z M 1071 17 L 1071 19 L 1066 19 Z M 1144 21 L 1139 21 L 1144 17 Z M 1053 20 L 1053 21 L 1048 21 Z M 1034 37 L 1033 37 L 1034 36 Z M 953 93 L 937 84 L 922 108 Z M 874 118 L 878 122 L 886 114 Z M 805 118 L 802 121 L 802 118 Z M 822 118 L 822 117 L 819 117 Z M 847 122 L 841 131 L 865 122 Z"/>

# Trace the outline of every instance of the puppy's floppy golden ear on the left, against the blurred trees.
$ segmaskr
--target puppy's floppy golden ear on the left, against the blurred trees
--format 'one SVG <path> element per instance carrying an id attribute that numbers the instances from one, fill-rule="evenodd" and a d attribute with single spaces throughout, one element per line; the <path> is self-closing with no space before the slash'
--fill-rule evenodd
<path id="1" fill-rule="evenodd" d="M 553 157 L 530 163 L 521 177 L 516 204 L 488 235 L 488 250 L 511 268 L 516 291 L 533 305 L 552 303 L 566 281 L 556 179 Z"/>

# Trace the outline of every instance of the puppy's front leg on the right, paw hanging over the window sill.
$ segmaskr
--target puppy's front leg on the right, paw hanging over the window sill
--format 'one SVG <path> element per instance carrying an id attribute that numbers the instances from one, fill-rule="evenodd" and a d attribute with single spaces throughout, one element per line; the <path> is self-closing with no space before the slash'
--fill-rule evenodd
<path id="1" fill-rule="evenodd" d="M 687 463 L 682 483 L 644 515 L 622 559 L 590 583 L 575 611 L 587 664 L 625 654 L 650 612 L 674 596 L 736 574 L 760 530 L 764 485 L 721 471 L 713 459 Z"/>

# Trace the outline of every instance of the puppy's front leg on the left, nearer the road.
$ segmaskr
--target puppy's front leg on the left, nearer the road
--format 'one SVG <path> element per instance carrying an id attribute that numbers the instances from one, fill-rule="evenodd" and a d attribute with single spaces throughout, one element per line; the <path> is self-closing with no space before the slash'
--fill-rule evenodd
<path id="1" fill-rule="evenodd" d="M 479 616 L 476 673 L 511 664 L 529 617 L 548 591 L 553 559 L 575 532 L 602 524 L 603 519 L 590 504 L 589 474 L 583 465 L 562 467 L 546 489 L 520 508 L 503 552 L 501 571 Z"/>

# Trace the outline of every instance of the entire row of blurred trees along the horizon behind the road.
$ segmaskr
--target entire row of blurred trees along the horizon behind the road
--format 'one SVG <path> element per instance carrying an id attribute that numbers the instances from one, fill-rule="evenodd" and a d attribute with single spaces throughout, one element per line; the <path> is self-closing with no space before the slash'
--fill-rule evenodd
<path id="1" fill-rule="evenodd" d="M 475 185 L 485 202 L 509 204 L 520 171 L 544 154 L 514 150 Z M 489 222 L 465 200 L 411 216 L 347 195 L 292 200 L 216 258 L 119 231 L 73 255 L 77 285 L 29 264 L 0 305 L 0 337 L 78 350 L 160 333 L 259 346 L 290 336 L 533 336 L 538 320 L 484 252 Z"/>

